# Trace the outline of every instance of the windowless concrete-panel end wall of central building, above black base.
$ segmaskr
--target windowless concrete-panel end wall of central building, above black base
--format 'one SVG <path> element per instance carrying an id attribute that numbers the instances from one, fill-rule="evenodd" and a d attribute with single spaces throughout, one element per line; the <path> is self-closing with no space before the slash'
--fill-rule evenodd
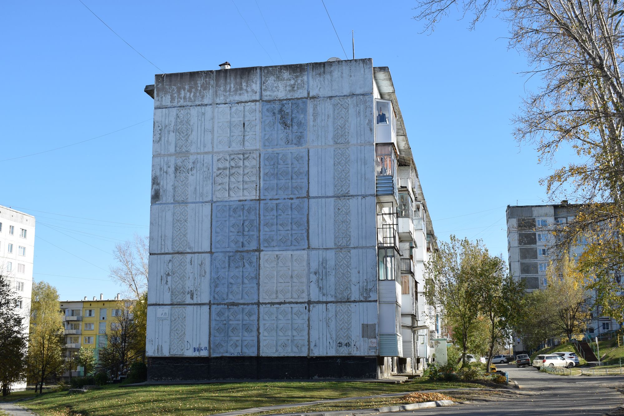
<path id="1" fill-rule="evenodd" d="M 154 105 L 148 357 L 377 355 L 373 62 L 157 75 Z"/>

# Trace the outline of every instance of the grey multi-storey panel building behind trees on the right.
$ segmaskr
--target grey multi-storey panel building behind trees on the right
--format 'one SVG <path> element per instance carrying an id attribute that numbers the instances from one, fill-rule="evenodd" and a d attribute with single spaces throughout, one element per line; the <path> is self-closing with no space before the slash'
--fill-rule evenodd
<path id="1" fill-rule="evenodd" d="M 546 269 L 551 260 L 557 260 L 555 250 L 551 250 L 555 244 L 553 231 L 560 224 L 572 220 L 578 207 L 578 204 L 568 204 L 567 201 L 551 205 L 507 206 L 509 271 L 514 277 L 525 281 L 527 290 L 547 286 Z M 579 240 L 573 247 L 574 254 L 580 255 L 586 245 L 586 240 Z M 595 337 L 619 327 L 615 319 L 602 316 L 600 309 L 595 309 L 587 335 Z M 514 347 L 524 349 L 519 339 L 515 340 Z"/>

